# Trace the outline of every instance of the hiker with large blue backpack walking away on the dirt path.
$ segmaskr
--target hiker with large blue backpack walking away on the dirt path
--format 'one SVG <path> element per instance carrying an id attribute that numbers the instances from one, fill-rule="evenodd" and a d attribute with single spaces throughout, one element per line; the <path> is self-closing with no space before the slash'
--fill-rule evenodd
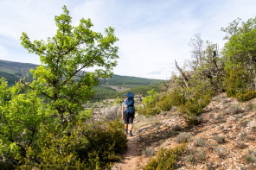
<path id="1" fill-rule="evenodd" d="M 122 104 L 122 119 L 125 120 L 125 132 L 128 135 L 128 124 L 130 124 L 130 136 L 132 131 L 132 123 L 135 118 L 134 95 L 132 92 L 125 94 L 125 102 Z"/>

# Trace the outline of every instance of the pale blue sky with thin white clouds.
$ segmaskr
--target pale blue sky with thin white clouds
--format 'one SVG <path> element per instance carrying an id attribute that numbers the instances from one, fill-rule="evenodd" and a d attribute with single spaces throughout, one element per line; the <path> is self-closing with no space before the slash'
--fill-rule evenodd
<path id="1" fill-rule="evenodd" d="M 0 60 L 40 64 L 20 37 L 22 32 L 30 41 L 54 36 L 54 16 L 63 13 L 63 5 L 74 26 L 91 18 L 93 31 L 104 35 L 105 28 L 115 28 L 114 74 L 148 79 L 170 79 L 175 60 L 180 66 L 190 60 L 194 35 L 221 49 L 226 42 L 221 28 L 256 16 L 255 0 L 0 0 Z"/>

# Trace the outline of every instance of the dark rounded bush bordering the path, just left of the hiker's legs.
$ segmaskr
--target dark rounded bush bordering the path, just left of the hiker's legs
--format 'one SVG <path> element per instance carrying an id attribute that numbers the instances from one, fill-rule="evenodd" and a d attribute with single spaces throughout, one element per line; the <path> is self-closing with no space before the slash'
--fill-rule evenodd
<path id="1" fill-rule="evenodd" d="M 92 169 L 110 166 L 111 162 L 118 161 L 118 154 L 123 154 L 127 148 L 127 137 L 124 133 L 124 124 L 118 119 L 105 124 L 94 124 L 83 132 L 88 143 L 80 146 L 76 152 L 81 160 L 93 161 Z"/>

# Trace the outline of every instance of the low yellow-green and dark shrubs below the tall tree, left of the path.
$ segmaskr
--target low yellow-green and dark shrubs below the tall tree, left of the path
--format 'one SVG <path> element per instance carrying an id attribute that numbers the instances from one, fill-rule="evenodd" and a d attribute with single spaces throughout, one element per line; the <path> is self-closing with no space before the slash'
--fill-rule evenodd
<path id="1" fill-rule="evenodd" d="M 59 135 L 60 125 L 54 131 L 43 129 L 36 148 L 26 148 L 26 156 L 18 154 L 18 169 L 102 169 L 119 160 L 127 148 L 123 123 L 115 120 L 95 124 L 84 129 L 81 120 L 76 128 Z M 37 148 L 40 148 L 39 150 Z"/>

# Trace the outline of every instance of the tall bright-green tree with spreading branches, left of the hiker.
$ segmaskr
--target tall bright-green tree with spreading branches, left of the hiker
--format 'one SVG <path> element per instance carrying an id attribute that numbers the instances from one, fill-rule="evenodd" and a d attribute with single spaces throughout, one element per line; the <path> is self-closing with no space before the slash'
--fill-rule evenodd
<path id="1" fill-rule="evenodd" d="M 106 28 L 106 36 L 93 32 L 90 19 L 82 18 L 79 26 L 73 27 L 66 6 L 63 11 L 61 16 L 55 16 L 56 35 L 46 42 L 29 41 L 29 36 L 22 33 L 22 46 L 39 55 L 42 64 L 31 70 L 32 83 L 21 82 L 49 101 L 48 108 L 55 110 L 54 115 L 67 125 L 93 96 L 93 86 L 99 85 L 99 78 L 112 76 L 118 58 L 118 47 L 113 43 L 118 38 L 111 27 Z M 83 72 L 93 66 L 99 69 Z"/>

